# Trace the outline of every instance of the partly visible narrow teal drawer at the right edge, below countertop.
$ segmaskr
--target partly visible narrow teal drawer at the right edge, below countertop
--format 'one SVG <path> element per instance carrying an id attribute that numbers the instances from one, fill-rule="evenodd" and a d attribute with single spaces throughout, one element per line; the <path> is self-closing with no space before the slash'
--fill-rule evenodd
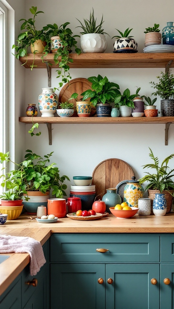
<path id="1" fill-rule="evenodd" d="M 161 262 L 174 262 L 174 234 L 161 235 Z"/>

